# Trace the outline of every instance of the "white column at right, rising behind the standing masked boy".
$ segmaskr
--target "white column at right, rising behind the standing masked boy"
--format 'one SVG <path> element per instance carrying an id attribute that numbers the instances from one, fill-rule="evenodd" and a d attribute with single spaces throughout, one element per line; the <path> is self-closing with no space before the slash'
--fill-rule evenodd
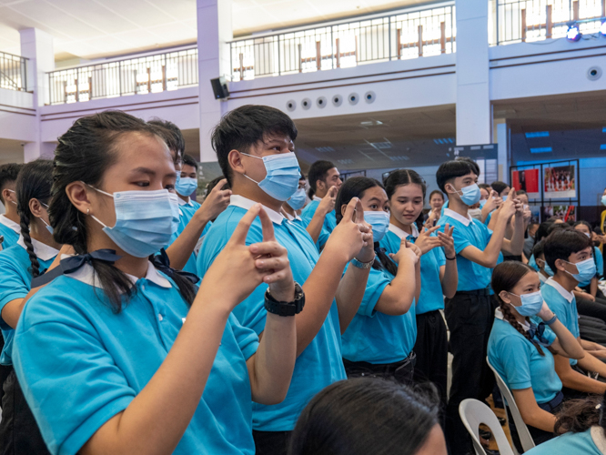
<path id="1" fill-rule="evenodd" d="M 492 142 L 487 0 L 457 0 L 457 145 Z"/>

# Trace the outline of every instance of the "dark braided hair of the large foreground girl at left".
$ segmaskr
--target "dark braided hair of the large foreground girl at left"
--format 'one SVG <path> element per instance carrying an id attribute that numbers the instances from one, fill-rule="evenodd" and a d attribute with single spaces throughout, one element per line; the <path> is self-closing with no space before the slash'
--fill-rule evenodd
<path id="1" fill-rule="evenodd" d="M 71 203 L 66 187 L 77 181 L 98 187 L 106 169 L 117 161 L 121 137 L 129 133 L 162 138 L 157 134 L 157 126 L 148 125 L 140 118 L 121 111 L 105 111 L 78 118 L 66 134 L 59 137 L 49 216 L 56 241 L 73 246 L 76 254 L 88 252 L 86 215 Z M 132 282 L 112 264 L 92 259 L 91 265 L 112 309 L 119 313 L 122 296 L 126 295 L 126 301 L 132 297 Z M 196 297 L 194 285 L 178 274 L 174 274 L 172 279 L 181 296 L 191 305 Z"/>

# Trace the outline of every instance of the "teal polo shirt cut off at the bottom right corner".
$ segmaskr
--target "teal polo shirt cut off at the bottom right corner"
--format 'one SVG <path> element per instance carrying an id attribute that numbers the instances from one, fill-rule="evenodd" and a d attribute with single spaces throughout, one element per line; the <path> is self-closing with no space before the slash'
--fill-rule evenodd
<path id="1" fill-rule="evenodd" d="M 565 433 L 557 438 L 548 440 L 533 447 L 526 452 L 527 455 L 603 455 L 602 451 L 606 447 L 603 430 L 601 427 L 591 427 L 591 429 L 581 433 Z M 601 444 L 602 450 L 598 449 L 596 440 Z"/>

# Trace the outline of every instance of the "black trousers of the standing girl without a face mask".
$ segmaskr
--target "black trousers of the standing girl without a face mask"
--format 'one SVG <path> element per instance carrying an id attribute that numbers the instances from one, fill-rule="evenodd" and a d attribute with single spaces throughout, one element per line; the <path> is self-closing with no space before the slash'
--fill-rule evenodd
<path id="1" fill-rule="evenodd" d="M 446 412 L 449 338 L 438 309 L 417 315 L 417 343 L 414 352 L 417 354 L 415 383 L 433 382 L 442 401 L 442 413 Z"/>

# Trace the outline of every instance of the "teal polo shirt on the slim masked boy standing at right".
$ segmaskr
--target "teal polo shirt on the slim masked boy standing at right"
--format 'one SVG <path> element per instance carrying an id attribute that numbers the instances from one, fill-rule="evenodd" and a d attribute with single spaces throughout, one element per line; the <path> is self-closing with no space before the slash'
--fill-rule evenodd
<path id="1" fill-rule="evenodd" d="M 457 253 L 457 270 L 459 272 L 459 285 L 457 290 L 476 290 L 490 287 L 492 269 L 480 266 L 476 262 L 463 258 L 460 252 L 470 246 L 483 251 L 490 242 L 492 231 L 481 221 L 461 217 L 458 213 L 447 208 L 444 216 L 439 218 L 439 230 L 444 231 L 444 225 L 454 226 L 452 239 Z"/>

